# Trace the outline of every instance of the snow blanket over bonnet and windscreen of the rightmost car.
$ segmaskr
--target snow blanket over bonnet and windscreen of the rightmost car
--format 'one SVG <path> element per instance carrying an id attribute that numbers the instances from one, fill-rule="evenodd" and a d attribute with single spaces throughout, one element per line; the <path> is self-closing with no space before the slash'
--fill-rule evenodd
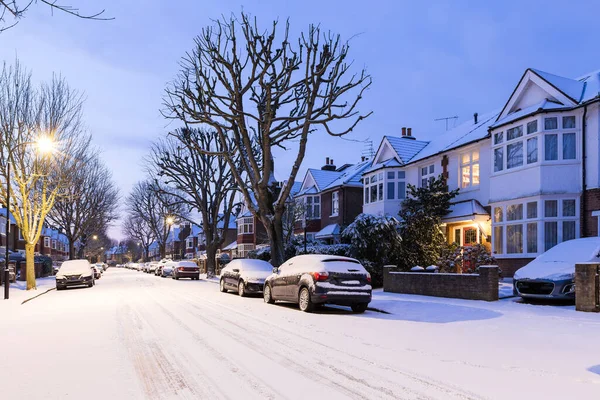
<path id="1" fill-rule="evenodd" d="M 519 269 L 515 279 L 569 279 L 575 274 L 575 264 L 600 262 L 600 237 L 569 240 L 559 243 Z"/>

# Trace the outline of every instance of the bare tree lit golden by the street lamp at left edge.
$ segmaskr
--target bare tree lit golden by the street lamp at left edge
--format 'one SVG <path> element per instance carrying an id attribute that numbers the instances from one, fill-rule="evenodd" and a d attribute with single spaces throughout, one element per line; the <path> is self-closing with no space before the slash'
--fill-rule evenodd
<path id="1" fill-rule="evenodd" d="M 36 88 L 18 62 L 0 73 L 0 201 L 8 204 L 10 181 L 11 212 L 25 240 L 28 290 L 36 288 L 34 249 L 46 216 L 70 186 L 71 171 L 82 165 L 89 144 L 82 106 L 81 95 L 64 79 Z M 36 149 L 36 142 L 45 149 Z"/>

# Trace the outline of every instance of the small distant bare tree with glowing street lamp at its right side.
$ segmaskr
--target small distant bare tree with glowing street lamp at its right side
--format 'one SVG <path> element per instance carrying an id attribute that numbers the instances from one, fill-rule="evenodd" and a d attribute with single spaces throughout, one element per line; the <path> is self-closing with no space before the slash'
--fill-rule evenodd
<path id="1" fill-rule="evenodd" d="M 150 227 L 164 258 L 171 227 L 187 217 L 184 204 L 151 181 L 138 182 L 126 204 L 130 217 L 141 219 Z"/>

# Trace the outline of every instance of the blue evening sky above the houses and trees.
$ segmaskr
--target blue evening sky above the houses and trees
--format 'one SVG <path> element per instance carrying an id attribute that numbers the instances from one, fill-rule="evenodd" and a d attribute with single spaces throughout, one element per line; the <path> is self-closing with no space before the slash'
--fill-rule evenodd
<path id="1" fill-rule="evenodd" d="M 85 120 L 112 168 L 121 193 L 144 176 L 148 144 L 176 125 L 159 113 L 165 85 L 179 59 L 211 20 L 242 9 L 264 25 L 290 17 L 292 31 L 309 23 L 351 40 L 350 57 L 373 77 L 361 110 L 374 114 L 347 138 L 370 139 L 412 127 L 419 139 L 444 133 L 434 119 L 459 122 L 501 108 L 524 70 L 576 77 L 600 69 L 596 0 L 391 1 L 346 0 L 69 0 L 82 10 L 105 8 L 114 21 L 50 15 L 39 5 L 0 34 L 0 57 L 18 57 L 35 79 L 53 72 L 86 94 Z M 325 157 L 360 160 L 365 144 L 316 133 L 299 179 Z M 278 178 L 291 156 L 279 153 Z M 118 226 L 111 233 L 121 236 Z"/>

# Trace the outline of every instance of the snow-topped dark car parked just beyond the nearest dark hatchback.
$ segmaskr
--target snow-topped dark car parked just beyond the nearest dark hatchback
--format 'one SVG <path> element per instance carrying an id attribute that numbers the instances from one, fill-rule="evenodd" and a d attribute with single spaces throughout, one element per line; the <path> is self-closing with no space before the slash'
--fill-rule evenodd
<path id="1" fill-rule="evenodd" d="M 263 291 L 265 280 L 273 273 L 273 266 L 266 261 L 238 259 L 221 269 L 219 289 L 221 292 L 235 290 L 240 296 Z"/>

